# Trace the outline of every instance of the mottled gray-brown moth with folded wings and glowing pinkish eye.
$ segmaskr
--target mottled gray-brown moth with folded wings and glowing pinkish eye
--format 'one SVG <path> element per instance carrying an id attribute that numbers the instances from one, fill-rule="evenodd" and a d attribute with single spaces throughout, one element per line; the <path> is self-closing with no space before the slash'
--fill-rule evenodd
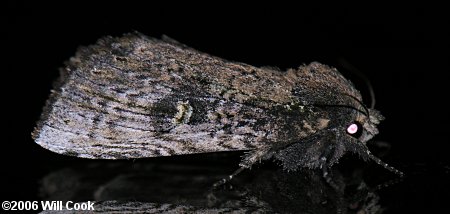
<path id="1" fill-rule="evenodd" d="M 245 150 L 240 170 L 271 158 L 326 170 L 351 152 L 401 175 L 366 145 L 382 119 L 335 68 L 254 67 L 130 33 L 78 50 L 32 136 L 92 159 Z"/>

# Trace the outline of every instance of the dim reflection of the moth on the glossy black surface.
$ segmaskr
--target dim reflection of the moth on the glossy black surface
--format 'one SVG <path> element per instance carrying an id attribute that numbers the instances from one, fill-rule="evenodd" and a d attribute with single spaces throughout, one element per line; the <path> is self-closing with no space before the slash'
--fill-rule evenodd
<path id="1" fill-rule="evenodd" d="M 199 158 L 219 160 L 215 162 L 219 164 L 227 157 Z M 333 181 L 338 188 L 332 188 L 315 171 L 288 173 L 258 168 L 236 177 L 229 186 L 233 188 L 211 189 L 209 184 L 225 176 L 226 170 L 218 169 L 211 162 L 194 162 L 186 159 L 175 166 L 168 162 L 140 161 L 130 168 L 127 162 L 94 161 L 46 175 L 39 188 L 40 195 L 43 200 L 96 201 L 96 213 L 171 213 L 173 210 L 176 213 L 369 214 L 382 213 L 384 209 L 379 203 L 380 185 L 375 188 L 367 185 L 360 169 L 343 173 L 333 168 Z M 368 178 L 369 182 L 374 181 Z M 120 202 L 113 201 L 117 199 Z M 145 203 L 150 206 L 135 202 L 150 202 Z"/>

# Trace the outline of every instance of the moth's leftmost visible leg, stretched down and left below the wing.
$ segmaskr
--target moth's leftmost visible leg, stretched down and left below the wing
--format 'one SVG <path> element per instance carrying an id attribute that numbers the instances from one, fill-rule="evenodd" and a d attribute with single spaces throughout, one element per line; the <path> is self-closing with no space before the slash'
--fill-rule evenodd
<path id="1" fill-rule="evenodd" d="M 231 179 L 233 179 L 233 177 L 235 177 L 236 175 L 238 175 L 245 169 L 250 169 L 252 167 L 252 165 L 255 164 L 256 162 L 261 162 L 261 160 L 267 160 L 271 156 L 272 156 L 272 153 L 270 152 L 270 149 L 268 149 L 268 148 L 260 148 L 258 150 L 249 152 L 248 154 L 246 154 L 244 156 L 244 159 L 241 161 L 241 163 L 239 163 L 239 168 L 236 171 L 234 171 L 231 175 L 229 175 L 228 177 L 223 178 L 222 180 L 214 183 L 213 188 L 217 188 L 219 186 L 222 186 L 222 185 L 228 183 L 229 181 L 231 181 Z"/>

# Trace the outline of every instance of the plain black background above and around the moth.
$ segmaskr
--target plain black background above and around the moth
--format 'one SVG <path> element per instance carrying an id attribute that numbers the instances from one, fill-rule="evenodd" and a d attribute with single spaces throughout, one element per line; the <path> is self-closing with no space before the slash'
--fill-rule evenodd
<path id="1" fill-rule="evenodd" d="M 2 200 L 38 200 L 39 179 L 69 162 L 31 139 L 58 68 L 77 47 L 105 35 L 139 31 L 168 35 L 228 60 L 281 69 L 319 61 L 366 85 L 339 63 L 345 59 L 372 82 L 387 118 L 378 140 L 385 158 L 410 175 L 386 194 L 394 212 L 444 207 L 449 198 L 450 23 L 438 6 L 403 5 L 153 5 L 7 3 L 2 7 Z M 236 163 L 237 164 L 237 163 Z M 407 178 L 408 179 L 408 178 Z M 394 187 L 395 188 L 395 187 Z"/>

